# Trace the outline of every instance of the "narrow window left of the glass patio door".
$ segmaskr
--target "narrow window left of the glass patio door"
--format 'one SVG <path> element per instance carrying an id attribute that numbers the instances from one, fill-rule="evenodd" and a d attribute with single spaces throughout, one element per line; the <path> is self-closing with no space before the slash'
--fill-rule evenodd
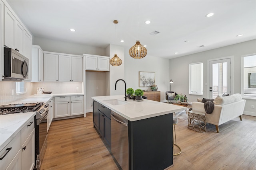
<path id="1" fill-rule="evenodd" d="M 203 63 L 189 64 L 189 94 L 203 94 Z"/>

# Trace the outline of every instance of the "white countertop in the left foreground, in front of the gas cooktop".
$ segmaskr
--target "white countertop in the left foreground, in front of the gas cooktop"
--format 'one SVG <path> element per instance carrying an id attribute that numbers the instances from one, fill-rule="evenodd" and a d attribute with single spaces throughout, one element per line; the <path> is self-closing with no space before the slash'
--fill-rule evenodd
<path id="1" fill-rule="evenodd" d="M 36 112 L 0 115 L 0 150 L 36 115 Z"/>

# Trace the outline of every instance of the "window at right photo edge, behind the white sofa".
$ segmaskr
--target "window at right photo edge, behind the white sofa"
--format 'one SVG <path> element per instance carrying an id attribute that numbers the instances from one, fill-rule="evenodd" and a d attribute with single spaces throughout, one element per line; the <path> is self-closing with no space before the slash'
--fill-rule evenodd
<path id="1" fill-rule="evenodd" d="M 244 98 L 256 99 L 256 54 L 242 56 L 241 65 L 241 93 Z"/>

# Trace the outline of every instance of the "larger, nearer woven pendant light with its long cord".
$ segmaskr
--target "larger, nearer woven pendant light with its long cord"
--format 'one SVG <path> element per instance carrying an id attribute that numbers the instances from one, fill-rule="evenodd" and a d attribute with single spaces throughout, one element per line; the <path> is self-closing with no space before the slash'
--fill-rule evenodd
<path id="1" fill-rule="evenodd" d="M 138 0 L 138 38 L 139 38 L 139 0 Z M 134 59 L 142 59 L 147 55 L 148 51 L 143 45 L 140 44 L 140 40 L 136 41 L 136 44 L 129 50 L 129 55 Z"/>

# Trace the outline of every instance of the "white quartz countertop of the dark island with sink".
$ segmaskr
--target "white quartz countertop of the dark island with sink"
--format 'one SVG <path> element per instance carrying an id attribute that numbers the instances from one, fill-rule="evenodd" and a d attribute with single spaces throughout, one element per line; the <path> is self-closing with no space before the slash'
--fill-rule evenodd
<path id="1" fill-rule="evenodd" d="M 136 102 L 133 100 L 124 101 L 124 95 L 118 96 L 96 96 L 92 97 L 100 104 L 108 107 L 110 110 L 118 113 L 122 117 L 128 119 L 129 121 L 137 121 L 141 119 L 146 119 L 150 117 L 156 117 L 160 115 L 165 115 L 168 113 L 173 113 L 175 111 L 186 110 L 186 107 L 177 106 L 173 104 L 166 104 L 162 102 L 156 102 L 152 100 L 143 100 L 141 102 Z M 122 101 L 120 105 L 112 105 L 108 100 Z"/>

